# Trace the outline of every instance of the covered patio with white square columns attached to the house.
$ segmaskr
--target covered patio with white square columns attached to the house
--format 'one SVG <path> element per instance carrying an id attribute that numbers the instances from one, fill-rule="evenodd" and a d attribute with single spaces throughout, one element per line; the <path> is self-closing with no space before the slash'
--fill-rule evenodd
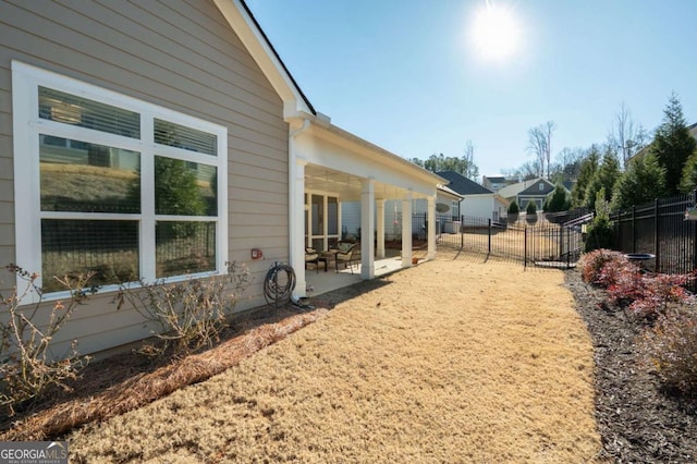
<path id="1" fill-rule="evenodd" d="M 313 278 L 317 274 L 314 269 L 305 270 L 305 248 L 323 252 L 344 239 L 341 229 L 343 202 L 360 204 L 362 232 L 357 240 L 360 259 L 358 270 L 354 269 L 356 279 L 374 279 L 387 269 L 392 271 L 412 266 L 411 220 L 403 220 L 400 224 L 401 258 L 386 259 L 384 203 L 389 199 L 402 202 L 404 218 L 412 217 L 415 199 L 427 202 L 426 258 L 436 256 L 437 188 L 448 181 L 332 125 L 321 113 L 303 113 L 302 118 L 291 121 L 289 156 L 290 248 L 291 266 L 297 279 L 295 297 L 306 296 L 306 286 L 313 284 L 307 272 Z M 340 276 L 345 273 L 328 272 L 318 279 L 344 279 Z"/>

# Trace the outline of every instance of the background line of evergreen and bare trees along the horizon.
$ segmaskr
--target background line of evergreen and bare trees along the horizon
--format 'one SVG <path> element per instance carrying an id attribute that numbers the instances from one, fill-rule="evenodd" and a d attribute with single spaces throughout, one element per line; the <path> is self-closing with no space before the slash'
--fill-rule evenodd
<path id="1" fill-rule="evenodd" d="M 652 135 L 632 119 L 623 102 L 606 142 L 588 148 L 563 148 L 552 160 L 555 129 L 553 121 L 530 129 L 527 150 L 533 160 L 503 171 L 512 183 L 546 178 L 560 186 L 557 197 L 563 183 L 573 184 L 563 206 L 557 198 L 554 209 L 595 210 L 599 194 L 610 208 L 625 209 L 697 188 L 697 142 L 675 93 L 670 96 L 661 124 Z M 455 171 L 477 180 L 479 168 L 474 161 L 474 149 L 472 141 L 467 141 L 462 157 L 441 152 L 411 161 L 432 172 Z"/>

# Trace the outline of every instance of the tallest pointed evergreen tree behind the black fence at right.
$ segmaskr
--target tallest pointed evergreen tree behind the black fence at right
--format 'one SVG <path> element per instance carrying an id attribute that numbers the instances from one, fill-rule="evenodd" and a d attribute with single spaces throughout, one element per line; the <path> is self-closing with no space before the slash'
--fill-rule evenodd
<path id="1" fill-rule="evenodd" d="M 668 195 L 678 193 L 683 168 L 696 147 L 697 143 L 689 135 L 677 95 L 673 93 L 663 110 L 663 122 L 656 131 L 651 147 L 659 164 L 665 170 Z"/>

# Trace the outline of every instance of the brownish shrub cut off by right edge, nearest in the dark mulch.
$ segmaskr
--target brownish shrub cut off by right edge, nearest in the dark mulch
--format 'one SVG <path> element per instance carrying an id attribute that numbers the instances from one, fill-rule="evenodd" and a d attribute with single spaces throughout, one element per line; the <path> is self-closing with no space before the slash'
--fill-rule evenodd
<path id="1" fill-rule="evenodd" d="M 645 361 L 669 387 L 697 393 L 697 312 L 670 312 L 639 339 Z"/>

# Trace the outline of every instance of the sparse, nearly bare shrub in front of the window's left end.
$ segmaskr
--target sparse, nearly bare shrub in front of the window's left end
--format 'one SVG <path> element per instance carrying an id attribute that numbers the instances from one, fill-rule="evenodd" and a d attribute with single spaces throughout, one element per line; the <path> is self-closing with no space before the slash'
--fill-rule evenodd
<path id="1" fill-rule="evenodd" d="M 78 378 L 89 357 L 80 357 L 77 342 L 73 341 L 70 353 L 62 359 L 54 359 L 51 341 L 77 305 L 97 289 L 87 288 L 91 274 L 54 277 L 61 289 L 70 292 L 70 301 L 66 304 L 56 302 L 48 322 L 42 325 L 36 320 L 36 316 L 47 309 L 42 298 L 33 305 L 20 306 L 32 292 L 42 295 L 41 289 L 35 284 L 38 274 L 14 265 L 7 266 L 7 269 L 26 283 L 22 291 L 15 286 L 9 296 L 0 295 L 0 312 L 7 312 L 0 323 L 0 406 L 12 416 L 17 407 L 39 399 L 51 388 L 70 390 L 65 381 Z"/>

